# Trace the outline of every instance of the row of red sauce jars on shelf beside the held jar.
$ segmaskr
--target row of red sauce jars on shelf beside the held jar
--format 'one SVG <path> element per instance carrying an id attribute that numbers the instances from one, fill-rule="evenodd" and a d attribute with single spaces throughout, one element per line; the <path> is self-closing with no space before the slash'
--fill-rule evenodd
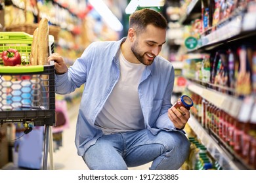
<path id="1" fill-rule="evenodd" d="M 228 154 L 240 161 L 245 169 L 255 169 L 255 133 L 256 125 L 251 122 L 242 122 L 230 115 L 214 103 L 202 100 L 201 109 L 198 109 L 198 99 L 201 96 L 191 93 L 196 110 L 191 110 L 198 124 L 202 125 L 211 138 L 221 144 Z M 198 111 L 202 111 L 202 121 L 198 120 Z M 207 146 L 207 144 L 205 144 Z"/>

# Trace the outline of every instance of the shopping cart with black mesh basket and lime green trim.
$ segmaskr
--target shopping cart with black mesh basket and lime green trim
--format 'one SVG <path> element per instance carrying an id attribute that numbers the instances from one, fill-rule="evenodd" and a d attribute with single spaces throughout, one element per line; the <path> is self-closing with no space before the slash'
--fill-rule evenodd
<path id="1" fill-rule="evenodd" d="M 32 41 L 33 36 L 24 32 L 0 33 L 0 56 L 14 48 L 24 64 L 4 66 L 0 57 L 0 124 L 45 126 L 43 169 L 47 169 L 51 127 L 55 125 L 54 65 L 29 65 Z M 49 54 L 53 49 L 54 38 L 49 35 Z"/>

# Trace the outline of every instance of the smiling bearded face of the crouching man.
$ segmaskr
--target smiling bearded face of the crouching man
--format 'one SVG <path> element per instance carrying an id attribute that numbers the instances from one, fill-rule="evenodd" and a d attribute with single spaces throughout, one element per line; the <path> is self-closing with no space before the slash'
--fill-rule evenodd
<path id="1" fill-rule="evenodd" d="M 135 39 L 131 44 L 131 51 L 140 63 L 151 65 L 165 43 L 165 35 L 165 29 L 148 25 L 142 33 L 135 33 Z"/>

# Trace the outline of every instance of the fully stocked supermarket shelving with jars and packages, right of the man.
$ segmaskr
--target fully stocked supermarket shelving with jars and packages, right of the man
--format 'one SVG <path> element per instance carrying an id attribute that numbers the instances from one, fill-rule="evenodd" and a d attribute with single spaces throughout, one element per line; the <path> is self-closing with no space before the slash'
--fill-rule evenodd
<path id="1" fill-rule="evenodd" d="M 186 5 L 186 35 L 199 33 L 196 48 L 186 48 L 190 58 L 182 70 L 194 101 L 188 124 L 223 169 L 256 169 L 256 3 L 193 0 Z M 194 26 L 198 19 L 202 31 Z M 214 146 L 223 150 L 221 156 Z"/>

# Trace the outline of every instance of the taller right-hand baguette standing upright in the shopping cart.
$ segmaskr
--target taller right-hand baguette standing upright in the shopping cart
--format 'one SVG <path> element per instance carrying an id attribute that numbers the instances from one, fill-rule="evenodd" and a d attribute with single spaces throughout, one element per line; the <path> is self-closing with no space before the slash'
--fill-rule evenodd
<path id="1" fill-rule="evenodd" d="M 49 56 L 49 25 L 47 18 L 42 18 L 38 25 L 37 36 L 37 61 L 38 65 L 47 65 L 47 58 Z"/>

